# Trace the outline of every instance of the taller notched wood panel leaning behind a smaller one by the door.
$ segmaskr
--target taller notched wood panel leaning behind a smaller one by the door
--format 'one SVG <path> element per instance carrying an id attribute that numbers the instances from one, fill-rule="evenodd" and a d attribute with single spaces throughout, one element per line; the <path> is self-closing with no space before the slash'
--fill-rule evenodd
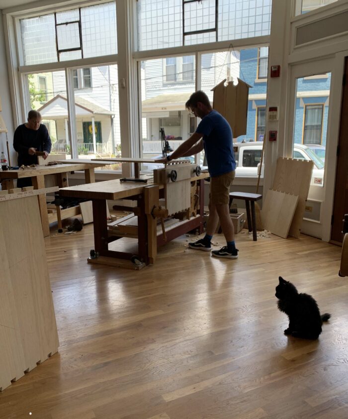
<path id="1" fill-rule="evenodd" d="M 298 203 L 289 235 L 299 237 L 312 178 L 313 161 L 279 157 L 273 180 L 273 190 L 298 196 Z"/>

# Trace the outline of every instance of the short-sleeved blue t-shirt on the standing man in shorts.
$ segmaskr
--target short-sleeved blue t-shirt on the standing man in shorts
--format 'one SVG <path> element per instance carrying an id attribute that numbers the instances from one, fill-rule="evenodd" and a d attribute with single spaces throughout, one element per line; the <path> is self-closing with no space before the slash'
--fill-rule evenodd
<path id="1" fill-rule="evenodd" d="M 212 110 L 199 122 L 196 132 L 203 134 L 203 146 L 211 177 L 236 170 L 232 129 L 217 110 Z"/>

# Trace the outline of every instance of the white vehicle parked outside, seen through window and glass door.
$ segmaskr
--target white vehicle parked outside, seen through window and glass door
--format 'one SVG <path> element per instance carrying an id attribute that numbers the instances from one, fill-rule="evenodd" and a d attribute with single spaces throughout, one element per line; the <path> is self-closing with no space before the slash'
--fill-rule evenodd
<path id="1" fill-rule="evenodd" d="M 235 160 L 237 163 L 236 176 L 256 177 L 261 163 L 262 142 L 234 143 Z M 322 186 L 324 183 L 324 162 L 304 144 L 294 144 L 294 159 L 313 160 L 313 174 L 311 185 Z M 262 163 L 261 176 L 264 165 Z"/>

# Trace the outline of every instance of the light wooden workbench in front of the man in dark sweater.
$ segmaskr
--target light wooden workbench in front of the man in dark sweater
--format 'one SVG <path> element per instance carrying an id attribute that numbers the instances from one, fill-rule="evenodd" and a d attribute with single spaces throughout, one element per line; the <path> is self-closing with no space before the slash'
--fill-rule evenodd
<path id="1" fill-rule="evenodd" d="M 91 162 L 90 160 L 62 160 L 56 166 L 35 166 L 35 168 L 28 169 L 17 169 L 0 171 L 0 180 L 2 190 L 13 189 L 15 179 L 31 178 L 34 189 L 45 188 L 45 176 L 55 175 L 56 185 L 60 188 L 68 186 L 68 173 L 75 172 L 77 170 L 85 171 L 86 183 L 95 182 L 94 169 L 96 167 L 105 166 L 103 163 Z M 57 221 L 56 214 L 48 214 L 46 195 L 39 195 L 39 208 L 41 215 L 41 224 L 44 237 L 50 233 L 50 222 Z M 61 211 L 61 218 L 67 218 L 68 216 L 74 216 L 77 213 L 77 209 L 67 209 Z"/>

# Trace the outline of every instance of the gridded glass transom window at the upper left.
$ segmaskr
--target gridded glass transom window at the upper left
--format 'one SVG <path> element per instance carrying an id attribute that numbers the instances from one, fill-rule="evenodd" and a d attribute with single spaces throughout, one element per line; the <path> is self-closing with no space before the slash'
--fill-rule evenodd
<path id="1" fill-rule="evenodd" d="M 117 53 L 115 2 L 20 20 L 24 65 Z"/>

